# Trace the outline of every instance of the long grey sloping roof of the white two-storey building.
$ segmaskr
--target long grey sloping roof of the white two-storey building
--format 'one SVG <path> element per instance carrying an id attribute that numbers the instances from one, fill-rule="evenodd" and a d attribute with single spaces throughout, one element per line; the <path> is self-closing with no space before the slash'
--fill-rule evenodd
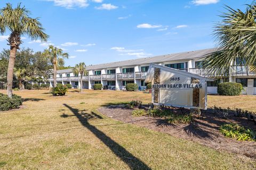
<path id="1" fill-rule="evenodd" d="M 135 65 L 141 65 L 141 64 L 162 63 L 162 62 L 171 62 L 171 61 L 179 61 L 179 60 L 192 60 L 196 58 L 197 59 L 203 58 L 204 55 L 215 52 L 216 50 L 217 48 L 210 48 L 210 49 L 202 49 L 202 50 L 196 50 L 196 51 L 190 51 L 190 52 L 139 58 L 134 60 L 125 60 L 125 61 L 112 62 L 112 63 L 89 65 L 89 66 L 86 66 L 86 70 L 100 70 L 100 69 L 116 68 L 116 67 L 122 67 L 122 66 L 135 66 Z M 73 72 L 73 69 L 58 70 L 57 72 L 58 73 Z"/>

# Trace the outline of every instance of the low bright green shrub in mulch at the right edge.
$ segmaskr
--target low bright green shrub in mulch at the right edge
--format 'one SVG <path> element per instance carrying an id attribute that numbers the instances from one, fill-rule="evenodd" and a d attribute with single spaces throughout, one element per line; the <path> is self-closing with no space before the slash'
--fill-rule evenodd
<path id="1" fill-rule="evenodd" d="M 220 133 L 227 138 L 234 138 L 239 141 L 256 141 L 256 133 L 251 129 L 245 129 L 238 124 L 230 123 L 220 126 Z"/>

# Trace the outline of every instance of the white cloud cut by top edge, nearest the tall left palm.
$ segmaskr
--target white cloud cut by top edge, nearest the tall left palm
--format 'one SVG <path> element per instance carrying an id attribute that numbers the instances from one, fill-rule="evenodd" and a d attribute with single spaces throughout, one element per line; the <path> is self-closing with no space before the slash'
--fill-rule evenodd
<path id="1" fill-rule="evenodd" d="M 62 6 L 66 8 L 74 8 L 74 7 L 87 7 L 89 4 L 87 0 L 44 0 L 44 1 L 52 1 L 56 6 Z"/>

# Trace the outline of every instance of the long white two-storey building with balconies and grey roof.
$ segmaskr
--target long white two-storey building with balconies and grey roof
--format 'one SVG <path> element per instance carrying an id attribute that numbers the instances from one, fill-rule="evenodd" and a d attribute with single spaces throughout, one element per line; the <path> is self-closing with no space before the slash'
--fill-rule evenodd
<path id="1" fill-rule="evenodd" d="M 83 88 L 93 89 L 93 85 L 101 83 L 103 87 L 113 90 L 124 90 L 127 83 L 137 83 L 139 90 L 146 89 L 145 78 L 150 63 L 172 67 L 202 76 L 208 76 L 202 67 L 204 55 L 214 52 L 216 49 L 203 49 L 192 52 L 167 54 L 155 57 L 139 58 L 98 65 L 89 65 L 86 70 L 89 75 L 83 76 Z M 243 66 L 238 60 L 234 62 L 234 71 L 229 77 L 217 79 L 216 82 L 208 83 L 208 93 L 217 94 L 219 82 L 239 82 L 244 87 L 243 94 L 256 95 L 256 74 Z M 49 79 L 53 84 L 53 78 Z M 74 88 L 81 86 L 80 77 L 73 73 L 73 69 L 58 70 L 57 83 L 72 84 Z"/>

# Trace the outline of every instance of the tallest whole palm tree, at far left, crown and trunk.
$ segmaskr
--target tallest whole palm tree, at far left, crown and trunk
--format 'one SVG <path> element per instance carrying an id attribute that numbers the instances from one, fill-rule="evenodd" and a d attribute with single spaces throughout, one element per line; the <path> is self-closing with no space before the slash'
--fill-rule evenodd
<path id="1" fill-rule="evenodd" d="M 12 8 L 10 3 L 0 9 L 0 32 L 3 35 L 7 30 L 11 32 L 7 39 L 10 45 L 10 58 L 7 70 L 7 95 L 12 98 L 13 69 L 17 49 L 19 49 L 21 36 L 27 35 L 32 40 L 41 39 L 46 41 L 49 37 L 44 33 L 42 24 L 38 18 L 30 18 L 30 12 L 18 4 L 17 8 Z"/>

